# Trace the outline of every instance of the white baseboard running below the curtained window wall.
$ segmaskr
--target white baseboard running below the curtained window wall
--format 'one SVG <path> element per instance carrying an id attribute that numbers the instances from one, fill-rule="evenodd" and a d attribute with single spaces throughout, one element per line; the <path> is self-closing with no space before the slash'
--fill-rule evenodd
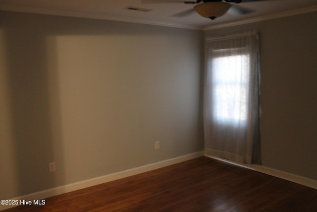
<path id="1" fill-rule="evenodd" d="M 261 172 L 261 173 L 264 173 L 264 174 L 268 174 L 268 175 L 271 175 L 271 176 L 274 176 L 274 177 L 278 177 L 278 178 L 281 178 L 281 179 L 284 179 L 284 180 L 288 180 L 288 181 L 291 181 L 293 183 L 298 183 L 298 184 L 301 184 L 301 185 L 304 185 L 304 186 L 307 186 L 307 187 L 310 187 L 310 188 L 313 188 L 313 189 L 317 189 L 317 181 L 309 179 L 309 178 L 306 178 L 306 177 L 302 177 L 302 176 L 299 176 L 299 175 L 291 174 L 291 173 L 288 173 L 288 172 L 280 171 L 280 170 L 277 170 L 277 169 L 273 169 L 273 168 L 269 168 L 269 167 L 265 167 L 265 166 L 261 166 L 261 165 L 239 164 L 239 163 L 235 163 L 235 162 L 223 159 L 223 158 L 213 157 L 213 156 L 211 156 L 209 154 L 206 154 L 206 153 L 205 153 L 205 156 L 211 157 L 213 159 L 216 159 L 216 160 L 219 160 L 219 161 L 222 161 L 222 162 L 225 162 L 225 163 L 230 163 L 230 164 L 233 164 L 233 165 L 236 165 L 236 166 L 244 167 L 244 168 L 251 169 L 251 170 L 254 170 L 254 171 L 258 171 L 258 172 Z"/>

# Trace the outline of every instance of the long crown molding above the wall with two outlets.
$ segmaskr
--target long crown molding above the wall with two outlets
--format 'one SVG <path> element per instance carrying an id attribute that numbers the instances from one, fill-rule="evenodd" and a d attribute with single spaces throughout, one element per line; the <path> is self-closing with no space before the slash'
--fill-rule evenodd
<path id="1" fill-rule="evenodd" d="M 10 4 L 0 4 L 0 10 L 45 14 L 45 15 L 59 15 L 59 16 L 68 16 L 68 17 L 102 19 L 102 20 L 129 22 L 129 23 L 141 23 L 141 24 L 167 26 L 167 27 L 183 28 L 183 29 L 194 29 L 194 30 L 203 29 L 201 26 L 189 25 L 189 24 L 178 24 L 178 23 L 170 23 L 170 22 L 156 21 L 156 20 L 140 20 L 140 19 L 133 19 L 129 17 L 105 15 L 102 13 L 77 12 L 77 11 L 68 11 L 68 10 L 66 11 L 66 10 L 49 9 L 49 8 L 17 6 L 17 5 L 10 5 Z"/>

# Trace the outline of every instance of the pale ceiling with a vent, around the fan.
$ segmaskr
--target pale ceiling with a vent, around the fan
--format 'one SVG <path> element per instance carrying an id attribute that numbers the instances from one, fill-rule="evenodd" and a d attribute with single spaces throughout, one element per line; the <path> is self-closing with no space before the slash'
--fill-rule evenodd
<path id="1" fill-rule="evenodd" d="M 192 29 L 206 29 L 223 24 L 273 17 L 274 15 L 287 16 L 317 11 L 317 0 L 257 0 L 252 2 L 242 1 L 238 4 L 254 10 L 254 12 L 246 15 L 226 13 L 215 20 L 201 17 L 196 12 L 185 17 L 172 16 L 192 8 L 193 5 L 184 4 L 183 0 L 180 0 L 180 3 L 142 3 L 142 0 L 0 0 L 0 10 L 98 18 Z M 127 7 L 129 6 L 147 8 L 151 11 L 128 10 Z"/>

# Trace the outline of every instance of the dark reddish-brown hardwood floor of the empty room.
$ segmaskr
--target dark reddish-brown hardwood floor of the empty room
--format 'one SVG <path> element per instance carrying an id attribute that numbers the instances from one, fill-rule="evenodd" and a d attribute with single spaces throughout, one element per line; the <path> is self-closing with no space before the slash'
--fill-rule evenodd
<path id="1" fill-rule="evenodd" d="M 317 190 L 208 157 L 6 212 L 316 212 Z"/>

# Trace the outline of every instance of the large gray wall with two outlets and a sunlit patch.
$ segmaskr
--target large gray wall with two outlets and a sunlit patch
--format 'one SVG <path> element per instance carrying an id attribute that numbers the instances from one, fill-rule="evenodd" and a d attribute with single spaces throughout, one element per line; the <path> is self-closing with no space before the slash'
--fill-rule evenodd
<path id="1" fill-rule="evenodd" d="M 0 11 L 0 197 L 203 150 L 202 50 L 196 30 Z"/>

